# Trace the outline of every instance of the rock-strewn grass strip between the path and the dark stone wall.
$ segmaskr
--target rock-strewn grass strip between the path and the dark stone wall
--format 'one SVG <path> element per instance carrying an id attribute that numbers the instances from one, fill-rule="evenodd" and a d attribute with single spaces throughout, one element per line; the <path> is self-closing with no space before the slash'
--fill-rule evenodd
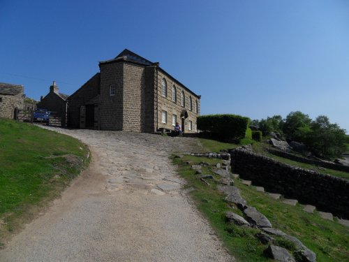
<path id="1" fill-rule="evenodd" d="M 195 175 L 195 171 L 191 170 L 190 165 L 185 164 L 186 161 L 191 161 L 191 164 L 201 161 L 214 164 L 220 159 L 207 161 L 207 158 L 184 156 L 182 159 L 174 157 L 173 161 L 179 167 L 179 174 L 186 179 L 186 187 L 195 189 L 190 194 L 198 210 L 207 217 L 230 254 L 238 261 L 269 261 L 263 254 L 267 245 L 262 245 L 254 236 L 259 229 L 227 224 L 224 216 L 226 211 L 230 210 L 240 215 L 242 212 L 235 205 L 225 201 L 225 196 L 217 191 L 216 182 L 207 180 L 211 186 L 206 186 L 198 179 L 198 175 Z M 214 175 L 211 166 L 202 169 L 202 173 Z M 216 180 L 220 178 L 216 175 L 214 177 Z M 293 207 L 269 198 L 255 191 L 254 187 L 244 186 L 238 180 L 235 180 L 235 185 L 241 189 L 248 205 L 265 214 L 274 228 L 279 228 L 301 240 L 306 247 L 317 254 L 317 261 L 349 261 L 348 228 L 336 221 L 322 219 L 316 212 L 314 214 L 303 212 L 302 205 Z M 294 248 L 290 242 L 282 239 L 278 239 L 277 243 L 290 249 L 290 252 Z"/>

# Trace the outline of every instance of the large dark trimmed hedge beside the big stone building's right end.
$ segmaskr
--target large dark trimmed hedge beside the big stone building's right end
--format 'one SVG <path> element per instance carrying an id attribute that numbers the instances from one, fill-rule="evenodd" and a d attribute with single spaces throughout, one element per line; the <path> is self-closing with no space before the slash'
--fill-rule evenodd
<path id="1" fill-rule="evenodd" d="M 224 141 L 240 140 L 246 137 L 251 120 L 240 115 L 200 115 L 198 129 Z"/>

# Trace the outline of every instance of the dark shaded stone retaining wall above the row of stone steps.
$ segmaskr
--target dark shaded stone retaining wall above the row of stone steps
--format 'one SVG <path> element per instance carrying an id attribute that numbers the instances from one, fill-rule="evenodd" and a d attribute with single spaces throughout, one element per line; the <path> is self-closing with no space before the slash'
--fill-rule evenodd
<path id="1" fill-rule="evenodd" d="M 270 193 L 295 198 L 349 219 L 349 181 L 281 163 L 248 150 L 230 150 L 234 173 Z"/>

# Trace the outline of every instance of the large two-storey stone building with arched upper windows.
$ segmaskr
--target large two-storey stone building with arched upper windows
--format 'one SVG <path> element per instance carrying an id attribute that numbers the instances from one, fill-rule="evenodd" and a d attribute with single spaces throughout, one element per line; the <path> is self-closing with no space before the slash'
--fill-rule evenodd
<path id="1" fill-rule="evenodd" d="M 200 96 L 159 63 L 125 49 L 99 68 L 69 97 L 69 126 L 153 133 L 179 122 L 184 132 L 196 132 Z"/>

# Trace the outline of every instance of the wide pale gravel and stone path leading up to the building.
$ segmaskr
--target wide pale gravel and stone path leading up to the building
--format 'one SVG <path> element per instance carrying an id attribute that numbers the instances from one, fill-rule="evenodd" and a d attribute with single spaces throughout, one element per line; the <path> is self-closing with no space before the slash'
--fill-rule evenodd
<path id="1" fill-rule="evenodd" d="M 82 140 L 93 161 L 0 261 L 234 261 L 168 159 L 198 140 L 45 128 Z"/>

